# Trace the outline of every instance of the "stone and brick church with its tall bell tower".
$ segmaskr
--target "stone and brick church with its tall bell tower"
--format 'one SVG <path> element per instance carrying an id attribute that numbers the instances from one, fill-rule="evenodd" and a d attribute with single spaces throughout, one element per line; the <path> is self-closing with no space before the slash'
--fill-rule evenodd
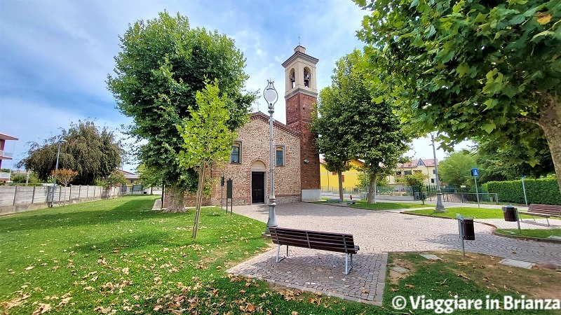
<path id="1" fill-rule="evenodd" d="M 298 45 L 283 62 L 285 68 L 286 125 L 273 120 L 274 185 L 276 203 L 317 201 L 321 199 L 320 158 L 310 131 L 313 104 L 318 98 L 316 64 L 319 59 L 306 55 Z M 281 89 L 282 87 L 280 87 Z M 279 90 L 280 90 L 279 89 Z M 278 91 L 279 94 L 282 90 Z M 280 95 L 279 95 L 280 97 Z M 212 193 L 203 205 L 226 203 L 225 184 L 232 183 L 234 205 L 266 204 L 269 197 L 270 133 L 269 116 L 258 111 L 238 130 L 229 162 L 210 171 Z M 186 206 L 195 203 L 188 195 Z"/>

